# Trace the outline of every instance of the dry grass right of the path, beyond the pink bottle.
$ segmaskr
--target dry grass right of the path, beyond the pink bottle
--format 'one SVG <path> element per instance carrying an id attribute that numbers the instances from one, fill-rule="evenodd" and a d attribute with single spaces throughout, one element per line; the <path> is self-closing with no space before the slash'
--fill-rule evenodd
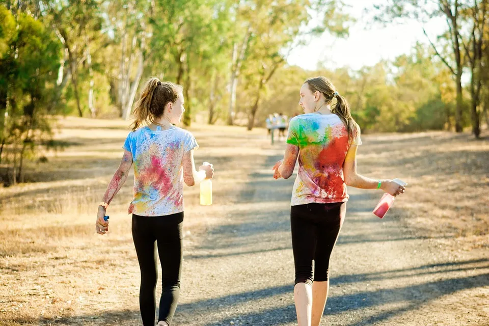
<path id="1" fill-rule="evenodd" d="M 425 132 L 371 136 L 360 170 L 399 177 L 408 191 L 395 203 L 417 235 L 457 237 L 467 249 L 489 239 L 489 140 L 470 134 Z"/>

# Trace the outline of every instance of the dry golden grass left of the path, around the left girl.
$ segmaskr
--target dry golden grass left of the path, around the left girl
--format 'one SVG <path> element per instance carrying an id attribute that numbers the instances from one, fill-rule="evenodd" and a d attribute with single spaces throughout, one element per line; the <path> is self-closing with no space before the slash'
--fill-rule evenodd
<path id="1" fill-rule="evenodd" d="M 69 316 L 80 316 L 75 323 L 97 323 L 105 309 L 138 310 L 139 280 L 133 276 L 139 268 L 126 214 L 132 175 L 109 210 L 111 232 L 94 232 L 98 202 L 122 157 L 127 123 L 67 118 L 60 125 L 56 139 L 72 145 L 29 167 L 26 178 L 36 182 L 0 188 L 0 325 L 63 323 Z M 255 164 L 240 156 L 270 147 L 263 147 L 262 130 L 192 131 L 202 147 L 196 162 L 209 160 L 218 171 L 212 206 L 202 209 L 199 189 L 185 187 L 187 248 L 194 235 L 222 218 L 224 205 L 237 204 L 235 195 Z M 109 286 L 105 278 L 119 285 Z"/>

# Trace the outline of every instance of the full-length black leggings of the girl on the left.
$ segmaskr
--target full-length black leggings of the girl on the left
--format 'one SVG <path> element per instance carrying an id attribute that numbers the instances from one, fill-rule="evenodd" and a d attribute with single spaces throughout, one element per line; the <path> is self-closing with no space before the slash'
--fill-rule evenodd
<path id="1" fill-rule="evenodd" d="M 166 216 L 132 214 L 132 239 L 141 268 L 139 306 L 144 326 L 155 324 L 156 245 L 162 270 L 158 321 L 164 320 L 170 325 L 177 308 L 183 260 L 182 224 L 183 212 Z"/>

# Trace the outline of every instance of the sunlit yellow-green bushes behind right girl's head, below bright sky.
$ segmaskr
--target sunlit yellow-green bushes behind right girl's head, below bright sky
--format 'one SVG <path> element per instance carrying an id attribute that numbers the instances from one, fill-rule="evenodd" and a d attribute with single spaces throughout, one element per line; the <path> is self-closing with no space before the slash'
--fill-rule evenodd
<path id="1" fill-rule="evenodd" d="M 453 126 L 455 96 L 451 75 L 443 63 L 432 61 L 429 48 L 418 44 L 394 62 L 380 62 L 360 71 L 346 68 L 307 72 L 286 67 L 270 83 L 259 115 L 302 113 L 297 105 L 302 82 L 312 76 L 329 77 L 349 102 L 352 116 L 365 132 L 422 131 Z M 464 116 L 466 123 L 470 117 Z"/>

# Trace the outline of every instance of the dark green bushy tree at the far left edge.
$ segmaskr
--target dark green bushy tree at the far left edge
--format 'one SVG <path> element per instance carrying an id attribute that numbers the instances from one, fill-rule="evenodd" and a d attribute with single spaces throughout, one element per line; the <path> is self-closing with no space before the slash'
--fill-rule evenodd
<path id="1" fill-rule="evenodd" d="M 36 144 L 50 134 L 47 114 L 56 114 L 54 96 L 61 46 L 40 20 L 0 7 L 0 160 L 13 164 L 10 180 L 22 176 L 25 157 L 35 155 Z M 14 29 L 15 28 L 15 29 Z"/>

